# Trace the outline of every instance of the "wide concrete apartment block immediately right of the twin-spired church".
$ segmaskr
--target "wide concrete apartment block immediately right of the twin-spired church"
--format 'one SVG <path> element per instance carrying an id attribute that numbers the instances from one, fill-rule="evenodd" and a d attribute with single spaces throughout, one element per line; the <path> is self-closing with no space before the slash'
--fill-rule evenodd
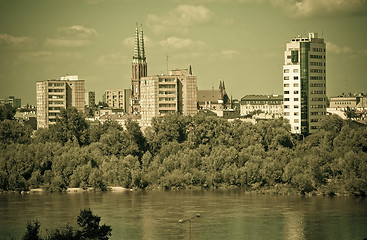
<path id="1" fill-rule="evenodd" d="M 191 67 L 172 70 L 169 75 L 141 78 L 141 126 L 151 125 L 156 116 L 178 112 L 183 115 L 197 113 L 197 77 Z"/>

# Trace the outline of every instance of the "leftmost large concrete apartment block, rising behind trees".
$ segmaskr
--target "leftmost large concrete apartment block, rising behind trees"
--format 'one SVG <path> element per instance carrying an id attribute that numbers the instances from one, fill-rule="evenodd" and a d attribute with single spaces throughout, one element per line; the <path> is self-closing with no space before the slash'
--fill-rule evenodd
<path id="1" fill-rule="evenodd" d="M 36 83 L 37 128 L 56 123 L 61 109 L 75 107 L 84 112 L 84 80 L 78 76 L 63 76 L 60 80 L 44 80 Z"/>

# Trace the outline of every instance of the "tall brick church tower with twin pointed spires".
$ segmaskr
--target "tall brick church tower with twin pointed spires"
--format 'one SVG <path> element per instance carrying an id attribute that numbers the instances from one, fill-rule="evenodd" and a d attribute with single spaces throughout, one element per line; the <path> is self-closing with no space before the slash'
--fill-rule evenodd
<path id="1" fill-rule="evenodd" d="M 132 62 L 132 75 L 131 75 L 131 113 L 140 113 L 140 80 L 142 77 L 146 77 L 147 74 L 147 62 L 144 49 L 144 33 L 143 26 L 138 26 L 135 29 L 135 43 L 134 43 L 134 55 Z"/>

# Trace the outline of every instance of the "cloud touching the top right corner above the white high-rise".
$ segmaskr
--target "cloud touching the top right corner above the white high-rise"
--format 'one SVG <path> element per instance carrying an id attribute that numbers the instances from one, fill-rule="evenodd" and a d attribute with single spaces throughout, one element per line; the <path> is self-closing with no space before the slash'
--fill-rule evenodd
<path id="1" fill-rule="evenodd" d="M 292 17 L 340 16 L 367 13 L 366 0 L 269 0 Z"/>

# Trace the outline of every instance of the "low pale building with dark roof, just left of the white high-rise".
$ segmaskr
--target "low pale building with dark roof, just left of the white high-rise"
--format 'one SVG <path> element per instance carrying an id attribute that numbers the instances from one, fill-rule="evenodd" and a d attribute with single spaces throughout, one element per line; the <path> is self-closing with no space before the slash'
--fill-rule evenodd
<path id="1" fill-rule="evenodd" d="M 241 99 L 241 116 L 279 118 L 283 116 L 283 95 L 246 95 Z"/>

